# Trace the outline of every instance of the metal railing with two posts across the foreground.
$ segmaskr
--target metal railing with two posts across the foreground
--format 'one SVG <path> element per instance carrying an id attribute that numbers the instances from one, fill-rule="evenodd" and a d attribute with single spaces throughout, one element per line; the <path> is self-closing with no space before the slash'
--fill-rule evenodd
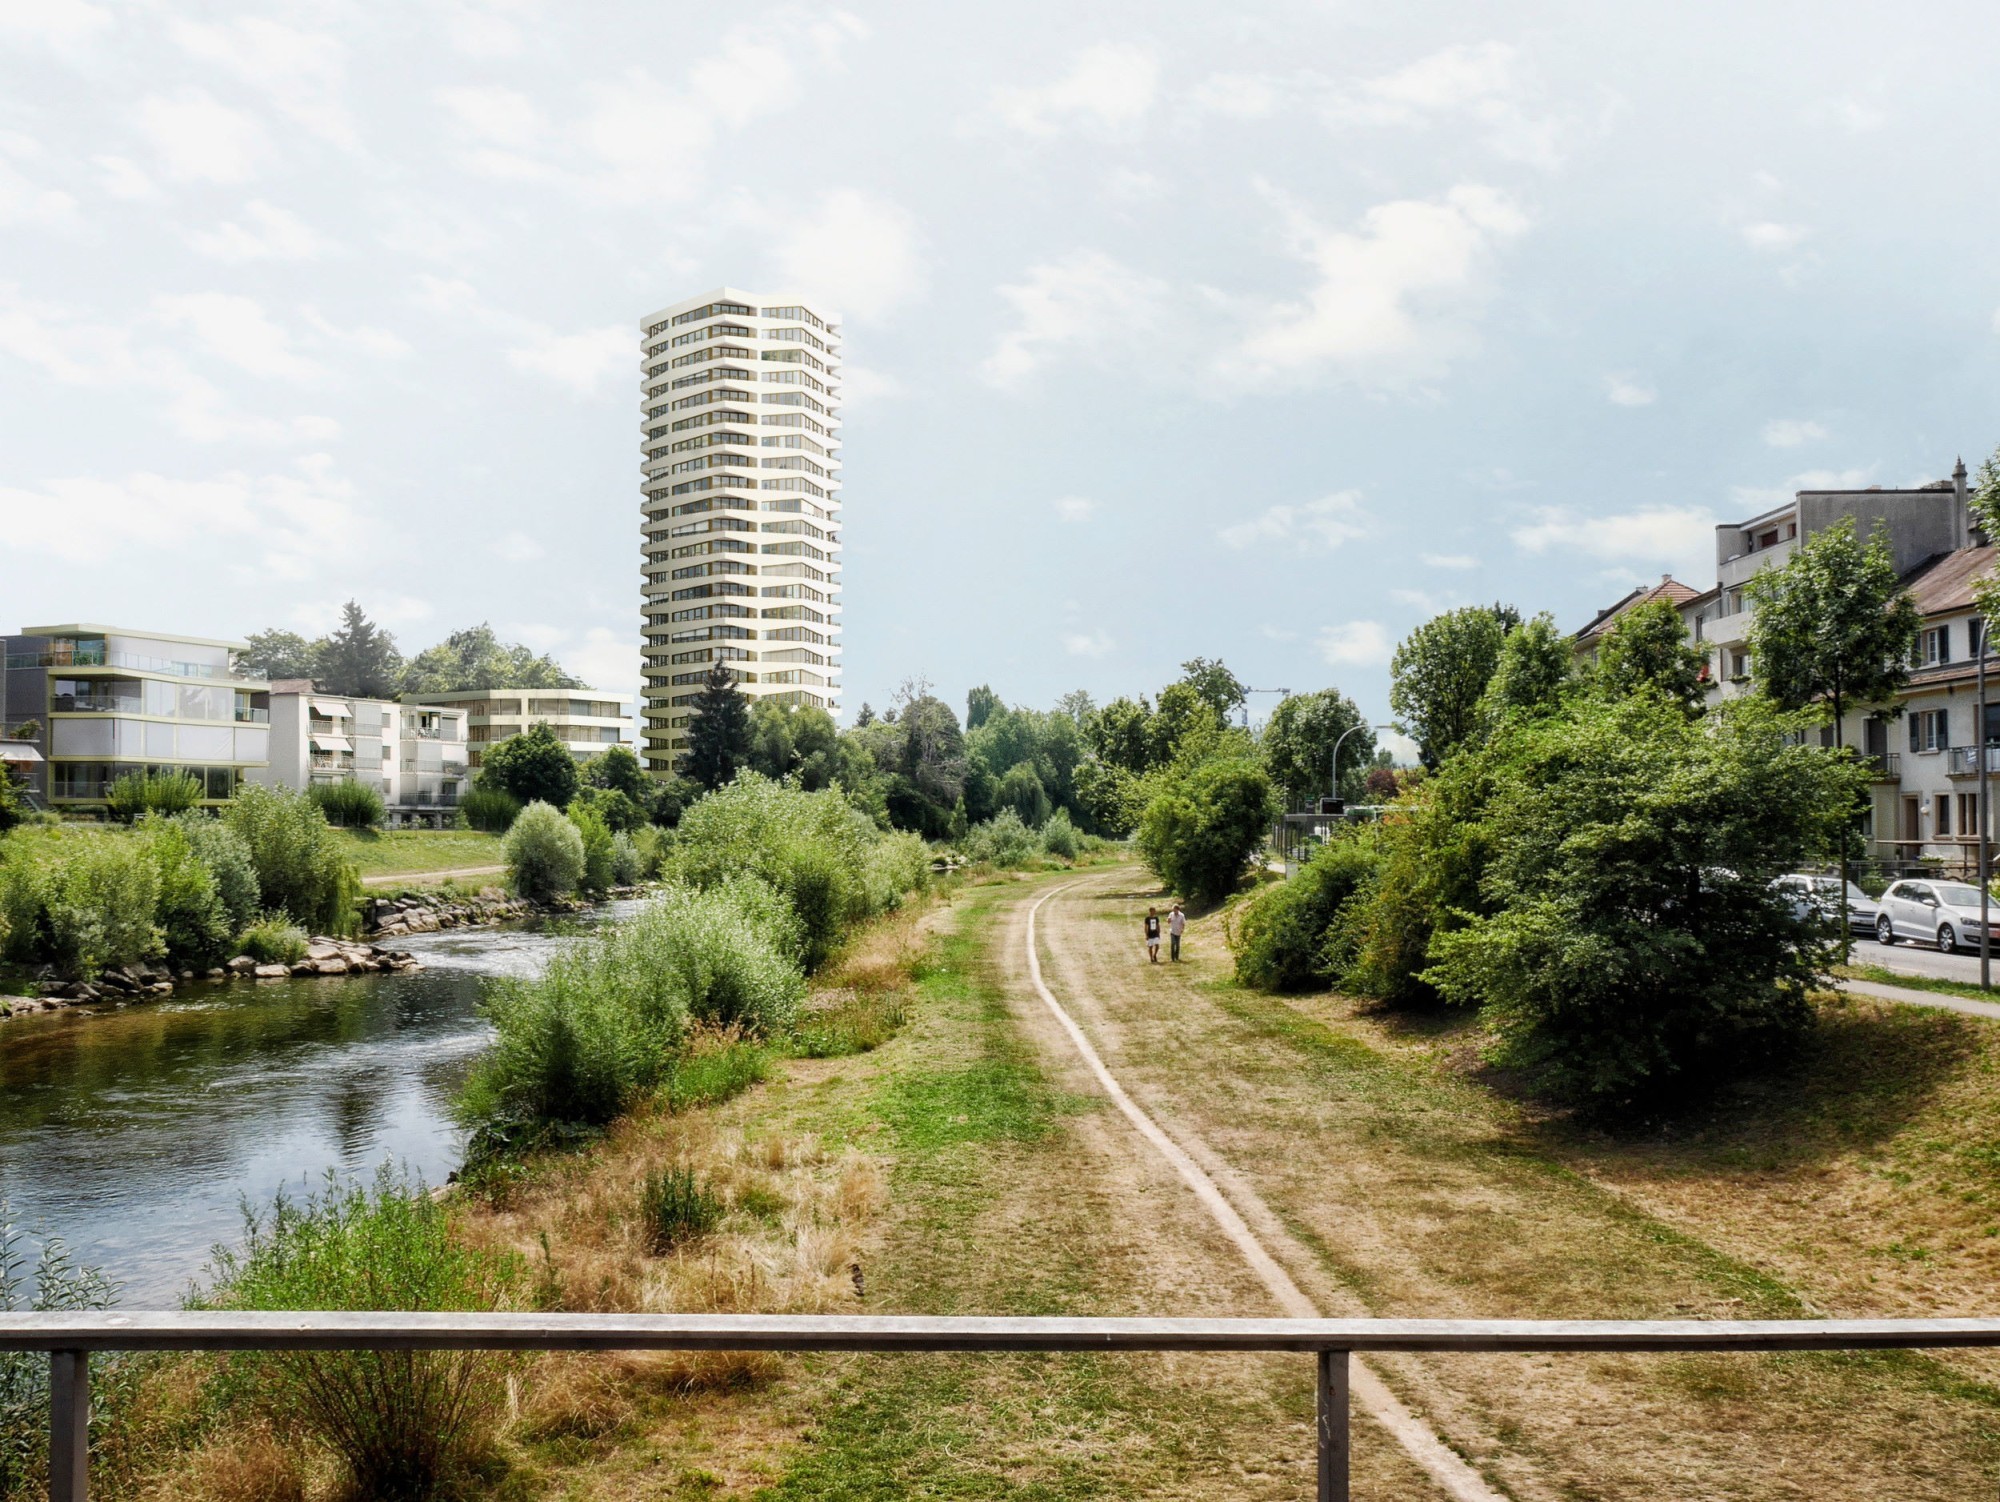
<path id="1" fill-rule="evenodd" d="M 1934 1350 L 2000 1320 L 1064 1320 L 898 1314 L 0 1314 L 0 1350 L 50 1362 L 50 1502 L 86 1502 L 90 1356 L 114 1350 L 1302 1352 L 1320 1502 L 1348 1498 L 1354 1352 Z"/>

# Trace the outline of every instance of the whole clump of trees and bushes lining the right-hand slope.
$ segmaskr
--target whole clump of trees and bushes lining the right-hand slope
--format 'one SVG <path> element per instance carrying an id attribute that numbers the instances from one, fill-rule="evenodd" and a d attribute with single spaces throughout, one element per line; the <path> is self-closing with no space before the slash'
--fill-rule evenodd
<path id="1" fill-rule="evenodd" d="M 1752 590 L 1758 692 L 1714 706 L 1666 600 L 1582 664 L 1548 616 L 1420 626 L 1392 704 L 1426 776 L 1252 896 L 1238 978 L 1476 1008 L 1496 1064 L 1594 1108 L 1786 1056 L 1838 948 L 1772 882 L 1856 850 L 1868 774 L 1824 706 L 1886 708 L 1916 616 L 1846 524 Z"/>

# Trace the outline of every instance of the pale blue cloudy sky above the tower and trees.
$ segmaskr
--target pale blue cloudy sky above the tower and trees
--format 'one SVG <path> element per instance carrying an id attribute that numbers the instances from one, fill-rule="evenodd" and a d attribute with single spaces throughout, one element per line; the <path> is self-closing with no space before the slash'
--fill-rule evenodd
<path id="1" fill-rule="evenodd" d="M 1988 6 L 0 0 L 0 626 L 638 680 L 636 324 L 846 316 L 848 714 L 1710 582 L 2000 442 Z M 1270 700 L 1262 700 L 1268 706 Z"/>

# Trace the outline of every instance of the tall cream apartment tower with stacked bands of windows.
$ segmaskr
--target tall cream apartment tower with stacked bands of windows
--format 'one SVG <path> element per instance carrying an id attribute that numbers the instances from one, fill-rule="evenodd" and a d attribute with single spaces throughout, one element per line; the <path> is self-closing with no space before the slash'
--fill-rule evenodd
<path id="1" fill-rule="evenodd" d="M 640 328 L 640 742 L 660 772 L 712 662 L 754 698 L 838 708 L 840 328 L 732 286 Z"/>

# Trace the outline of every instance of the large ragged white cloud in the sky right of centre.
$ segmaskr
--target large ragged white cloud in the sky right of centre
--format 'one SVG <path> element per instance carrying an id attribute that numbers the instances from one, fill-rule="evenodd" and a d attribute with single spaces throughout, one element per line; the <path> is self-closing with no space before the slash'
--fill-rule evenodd
<path id="1" fill-rule="evenodd" d="M 1440 200 L 1378 204 L 1358 232 L 1326 230 L 1290 210 L 1294 254 L 1316 272 L 1304 302 L 1254 316 L 1258 328 L 1222 360 L 1242 380 L 1312 376 L 1348 366 L 1396 380 L 1440 370 L 1464 344 L 1440 304 L 1464 298 L 1492 248 L 1528 228 L 1514 202 L 1478 184 Z"/>

